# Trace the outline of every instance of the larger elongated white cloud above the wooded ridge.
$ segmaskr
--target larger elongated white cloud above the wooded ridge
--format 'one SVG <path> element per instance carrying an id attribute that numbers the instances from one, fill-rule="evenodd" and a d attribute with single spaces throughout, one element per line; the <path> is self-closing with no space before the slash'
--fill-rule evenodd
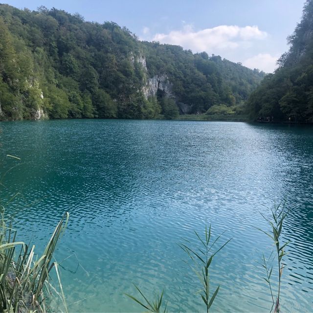
<path id="1" fill-rule="evenodd" d="M 181 45 L 194 52 L 206 51 L 211 54 L 217 50 L 220 52 L 249 46 L 250 42 L 263 40 L 267 36 L 268 34 L 261 31 L 258 26 L 220 25 L 195 31 L 191 24 L 186 24 L 182 30 L 171 31 L 168 34 L 158 33 L 153 40 L 162 44 Z"/>

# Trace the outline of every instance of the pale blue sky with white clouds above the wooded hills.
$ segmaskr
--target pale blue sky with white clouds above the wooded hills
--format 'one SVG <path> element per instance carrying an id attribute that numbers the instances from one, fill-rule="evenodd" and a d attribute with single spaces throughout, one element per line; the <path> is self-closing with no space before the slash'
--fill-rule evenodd
<path id="1" fill-rule="evenodd" d="M 288 49 L 286 37 L 301 19 L 304 0 L 9 0 L 31 10 L 40 5 L 86 21 L 113 21 L 142 40 L 219 54 L 271 72 Z"/>

